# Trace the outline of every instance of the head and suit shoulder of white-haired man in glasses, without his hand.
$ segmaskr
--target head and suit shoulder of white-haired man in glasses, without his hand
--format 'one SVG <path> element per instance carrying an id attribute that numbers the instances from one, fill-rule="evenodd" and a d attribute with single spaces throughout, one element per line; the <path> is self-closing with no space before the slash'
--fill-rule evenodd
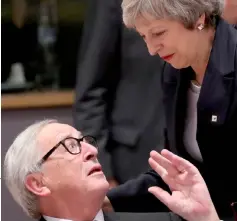
<path id="1" fill-rule="evenodd" d="M 171 213 L 103 214 L 109 184 L 97 154 L 94 137 L 55 120 L 37 122 L 6 154 L 6 186 L 27 215 L 41 221 L 174 220 Z"/>

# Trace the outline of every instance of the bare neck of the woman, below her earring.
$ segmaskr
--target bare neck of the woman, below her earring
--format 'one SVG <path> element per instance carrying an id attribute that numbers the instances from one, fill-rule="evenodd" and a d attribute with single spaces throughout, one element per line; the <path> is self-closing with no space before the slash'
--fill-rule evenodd
<path id="1" fill-rule="evenodd" d="M 214 36 L 215 36 L 214 28 L 209 28 L 208 30 L 203 31 L 203 35 L 200 38 L 200 45 L 198 46 L 195 61 L 191 65 L 196 75 L 196 81 L 200 85 L 202 85 L 206 68 L 209 62 Z"/>

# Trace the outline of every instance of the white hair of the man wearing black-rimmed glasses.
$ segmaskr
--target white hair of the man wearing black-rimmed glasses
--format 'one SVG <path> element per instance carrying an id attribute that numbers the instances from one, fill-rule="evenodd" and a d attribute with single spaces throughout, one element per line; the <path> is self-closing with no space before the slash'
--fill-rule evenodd
<path id="1" fill-rule="evenodd" d="M 40 217 L 38 201 L 26 188 L 25 179 L 28 174 L 40 171 L 37 163 L 42 157 L 42 152 L 37 147 L 37 137 L 40 131 L 51 123 L 57 123 L 57 120 L 39 121 L 22 131 L 8 149 L 4 161 L 7 188 L 26 214 L 35 219 Z"/>

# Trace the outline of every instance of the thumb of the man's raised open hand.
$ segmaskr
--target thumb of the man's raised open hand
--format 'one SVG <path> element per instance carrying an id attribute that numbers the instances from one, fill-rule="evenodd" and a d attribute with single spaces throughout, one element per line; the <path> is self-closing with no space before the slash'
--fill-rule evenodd
<path id="1" fill-rule="evenodd" d="M 150 187 L 148 191 L 164 203 L 168 208 L 172 207 L 172 196 L 167 191 L 155 186 Z"/>

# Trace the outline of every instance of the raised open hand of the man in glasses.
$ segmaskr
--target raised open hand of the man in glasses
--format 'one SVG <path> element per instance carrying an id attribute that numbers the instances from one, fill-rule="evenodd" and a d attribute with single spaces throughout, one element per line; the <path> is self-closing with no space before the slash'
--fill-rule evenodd
<path id="1" fill-rule="evenodd" d="M 171 211 L 188 221 L 219 221 L 206 183 L 194 165 L 168 150 L 152 151 L 149 163 L 171 194 L 159 187 L 148 190 Z"/>

